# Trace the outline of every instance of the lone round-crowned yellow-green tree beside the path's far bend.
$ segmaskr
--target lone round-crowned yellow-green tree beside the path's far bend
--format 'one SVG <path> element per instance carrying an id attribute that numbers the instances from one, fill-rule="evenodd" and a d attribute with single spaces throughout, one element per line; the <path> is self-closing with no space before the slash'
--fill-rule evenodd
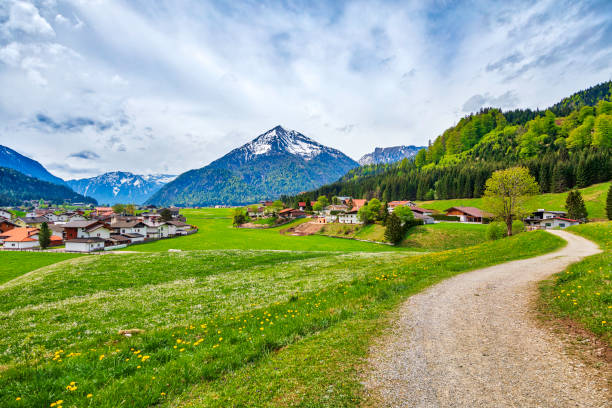
<path id="1" fill-rule="evenodd" d="M 498 170 L 486 182 L 485 207 L 506 224 L 508 236 L 512 235 L 512 221 L 529 213 L 525 199 L 540 191 L 535 178 L 525 167 Z"/>

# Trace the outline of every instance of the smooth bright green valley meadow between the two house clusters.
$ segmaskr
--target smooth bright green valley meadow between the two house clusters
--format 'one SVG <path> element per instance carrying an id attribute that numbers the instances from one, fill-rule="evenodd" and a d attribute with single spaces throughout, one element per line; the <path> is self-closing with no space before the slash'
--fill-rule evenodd
<path id="1" fill-rule="evenodd" d="M 197 234 L 132 246 L 134 251 L 167 251 L 170 248 L 194 249 L 280 249 L 296 251 L 394 251 L 387 245 L 330 239 L 320 235 L 295 237 L 280 234 L 294 224 L 264 230 L 233 228 L 231 210 L 198 209 L 181 211 L 190 224 L 198 226 Z M 296 223 L 302 222 L 300 220 Z"/>

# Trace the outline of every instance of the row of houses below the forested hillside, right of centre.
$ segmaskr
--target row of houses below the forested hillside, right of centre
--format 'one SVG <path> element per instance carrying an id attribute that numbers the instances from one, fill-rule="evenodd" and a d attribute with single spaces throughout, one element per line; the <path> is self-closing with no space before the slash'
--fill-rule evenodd
<path id="1" fill-rule="evenodd" d="M 258 206 L 247 207 L 247 215 L 251 220 L 265 220 L 274 218 L 277 224 L 289 222 L 299 218 L 311 218 L 315 224 L 357 224 L 367 223 L 367 216 L 362 210 L 369 202 L 365 199 L 352 197 L 333 197 L 333 204 L 327 204 L 325 200 L 305 202 L 301 201 L 295 208 L 279 208 L 277 201 L 262 201 Z M 494 219 L 494 215 L 480 208 L 468 206 L 454 206 L 447 208 L 444 212 L 418 207 L 410 200 L 390 201 L 377 205 L 386 206 L 387 212 L 392 214 L 396 209 L 407 207 L 412 212 L 414 220 L 422 224 L 435 224 L 440 222 L 457 222 L 467 224 L 488 224 Z M 360 211 L 361 210 L 361 211 Z M 364 219 L 365 218 L 365 219 Z M 538 209 L 524 218 L 525 229 L 546 230 L 555 228 L 567 228 L 578 225 L 581 220 L 567 218 L 565 211 L 553 211 Z M 250 224 L 252 225 L 252 224 Z"/>

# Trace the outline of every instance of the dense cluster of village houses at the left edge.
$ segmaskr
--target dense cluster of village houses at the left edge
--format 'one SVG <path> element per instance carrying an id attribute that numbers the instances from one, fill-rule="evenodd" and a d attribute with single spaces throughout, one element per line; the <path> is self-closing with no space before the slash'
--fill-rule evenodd
<path id="1" fill-rule="evenodd" d="M 113 207 L 64 211 L 41 203 L 23 217 L 0 208 L 0 250 L 45 249 L 39 240 L 43 224 L 49 230 L 49 251 L 91 253 L 197 232 L 185 221 L 176 207 L 148 206 L 127 214 Z"/>

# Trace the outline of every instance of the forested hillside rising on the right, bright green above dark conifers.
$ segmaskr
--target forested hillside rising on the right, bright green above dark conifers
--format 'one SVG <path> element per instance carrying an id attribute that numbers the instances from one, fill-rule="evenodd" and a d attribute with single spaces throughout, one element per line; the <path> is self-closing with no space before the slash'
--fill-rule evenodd
<path id="1" fill-rule="evenodd" d="M 319 195 L 383 200 L 480 197 L 498 169 L 521 164 L 542 192 L 612 178 L 612 82 L 578 92 L 546 111 L 482 109 L 438 136 L 415 160 L 362 166 L 287 203 Z"/>

